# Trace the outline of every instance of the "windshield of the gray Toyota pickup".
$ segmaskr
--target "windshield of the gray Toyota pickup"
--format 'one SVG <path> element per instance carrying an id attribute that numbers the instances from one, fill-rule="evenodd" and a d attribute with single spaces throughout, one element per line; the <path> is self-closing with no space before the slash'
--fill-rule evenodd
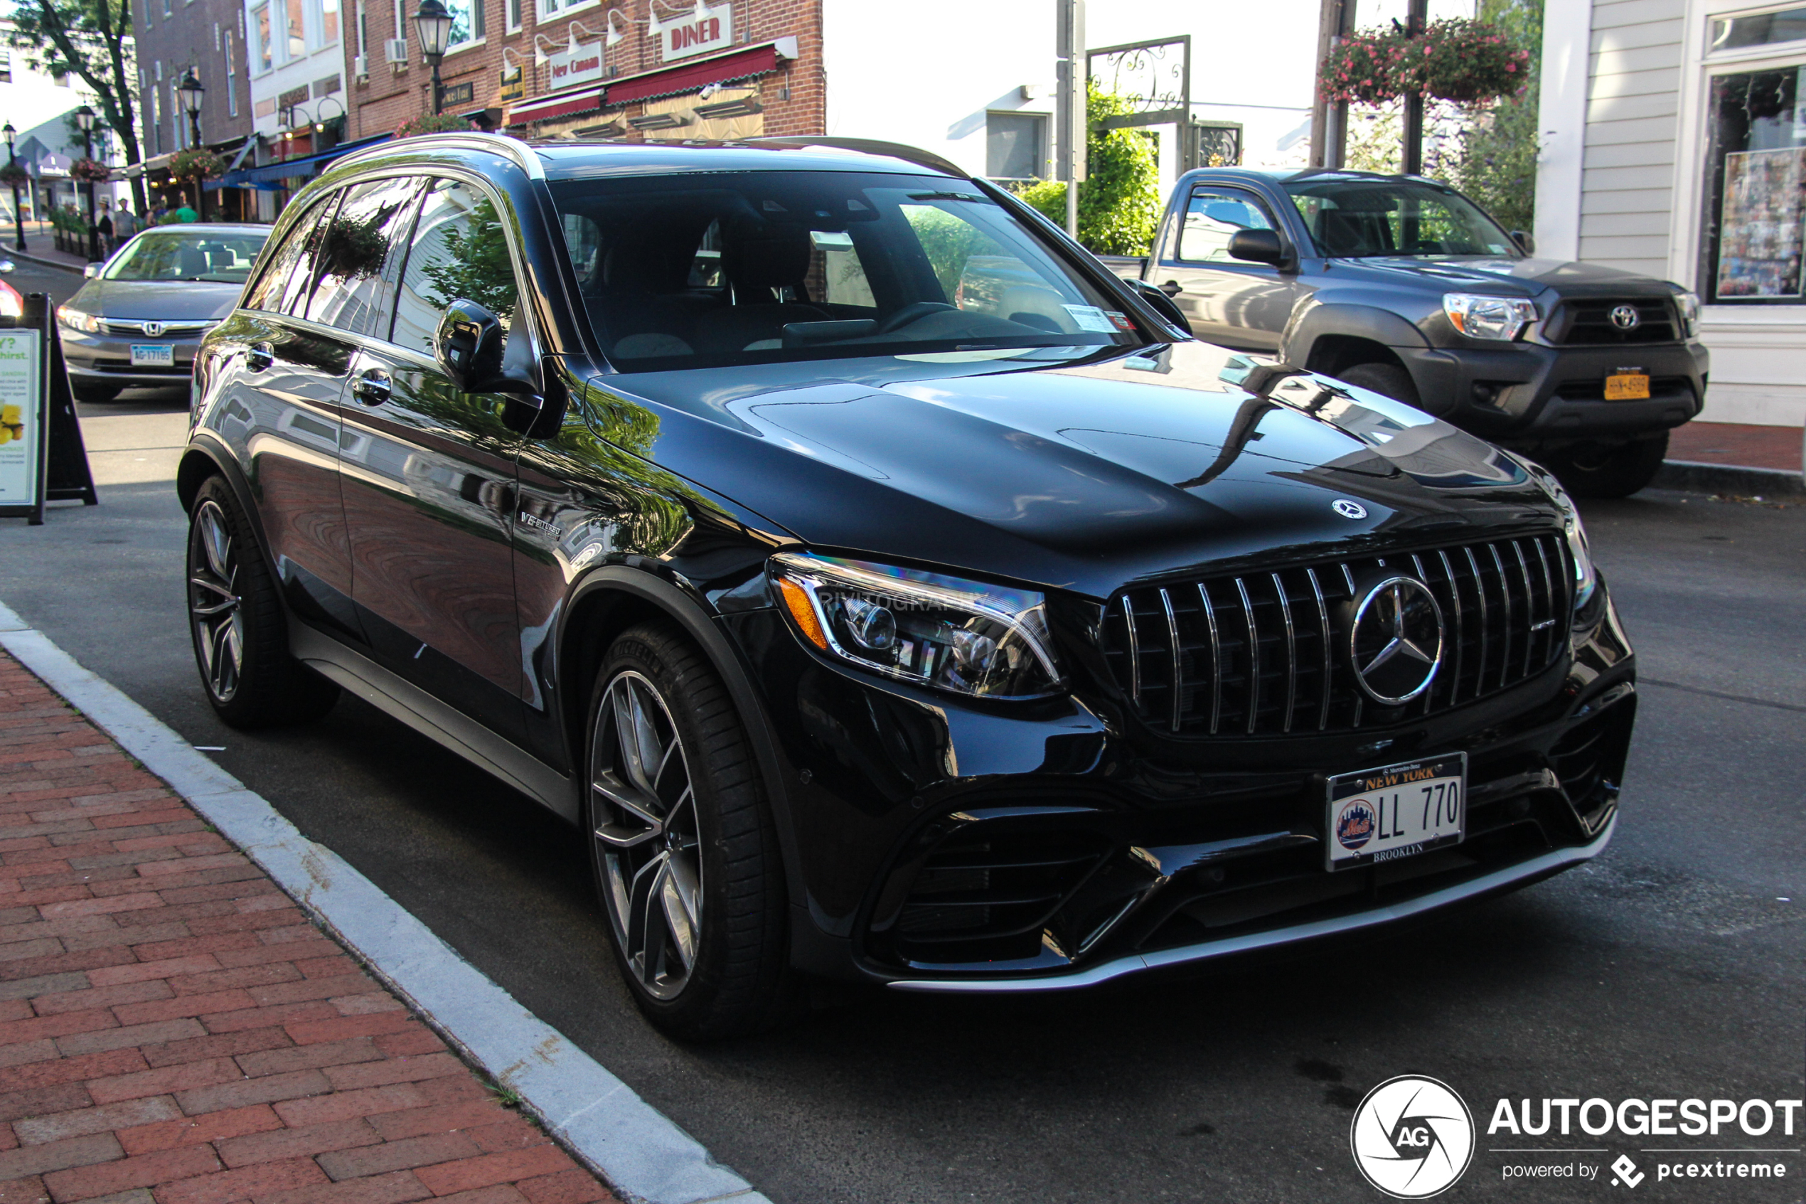
<path id="1" fill-rule="evenodd" d="M 1318 255 L 1522 258 L 1517 244 L 1479 206 L 1436 184 L 1306 177 L 1286 182 L 1286 191 L 1304 215 Z"/>

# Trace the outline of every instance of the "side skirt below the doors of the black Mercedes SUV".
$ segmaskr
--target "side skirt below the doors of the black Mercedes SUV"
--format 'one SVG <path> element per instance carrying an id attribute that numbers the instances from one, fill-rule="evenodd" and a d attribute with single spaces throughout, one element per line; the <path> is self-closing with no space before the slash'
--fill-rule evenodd
<path id="1" fill-rule="evenodd" d="M 338 682 L 376 709 L 442 744 L 563 820 L 578 821 L 578 801 L 571 789 L 571 778 L 462 711 L 446 706 L 376 661 L 293 617 L 289 619 L 289 650 L 307 668 Z"/>

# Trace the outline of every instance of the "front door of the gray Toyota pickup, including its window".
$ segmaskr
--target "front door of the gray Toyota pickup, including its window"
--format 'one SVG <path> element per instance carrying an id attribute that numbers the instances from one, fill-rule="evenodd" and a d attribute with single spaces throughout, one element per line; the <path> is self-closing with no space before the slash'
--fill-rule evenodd
<path id="1" fill-rule="evenodd" d="M 1150 278 L 1179 285 L 1172 300 L 1197 338 L 1243 350 L 1279 350 L 1297 298 L 1297 273 L 1230 258 L 1230 238 L 1241 229 L 1279 229 L 1286 240 L 1271 209 L 1252 191 L 1199 184 Z"/>

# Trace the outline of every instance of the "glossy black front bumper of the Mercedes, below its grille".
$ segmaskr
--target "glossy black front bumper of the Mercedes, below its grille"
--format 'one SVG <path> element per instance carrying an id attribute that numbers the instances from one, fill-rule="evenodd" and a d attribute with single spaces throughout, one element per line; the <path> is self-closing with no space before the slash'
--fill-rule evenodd
<path id="1" fill-rule="evenodd" d="M 1057 991 L 1385 924 L 1611 839 L 1636 709 L 1609 599 L 1569 655 L 1392 729 L 1161 744 L 1098 699 L 955 706 L 730 619 L 787 762 L 793 955 L 910 991 Z M 1593 607 L 1589 607 L 1591 610 Z M 1468 755 L 1468 839 L 1322 868 L 1335 773 Z"/>

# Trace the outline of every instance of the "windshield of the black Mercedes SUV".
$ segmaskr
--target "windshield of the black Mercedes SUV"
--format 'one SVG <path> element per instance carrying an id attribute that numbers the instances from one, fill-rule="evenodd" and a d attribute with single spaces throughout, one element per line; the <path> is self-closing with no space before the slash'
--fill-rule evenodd
<path id="1" fill-rule="evenodd" d="M 551 188 L 596 338 L 628 372 L 1145 341 L 966 181 L 740 171 Z"/>

